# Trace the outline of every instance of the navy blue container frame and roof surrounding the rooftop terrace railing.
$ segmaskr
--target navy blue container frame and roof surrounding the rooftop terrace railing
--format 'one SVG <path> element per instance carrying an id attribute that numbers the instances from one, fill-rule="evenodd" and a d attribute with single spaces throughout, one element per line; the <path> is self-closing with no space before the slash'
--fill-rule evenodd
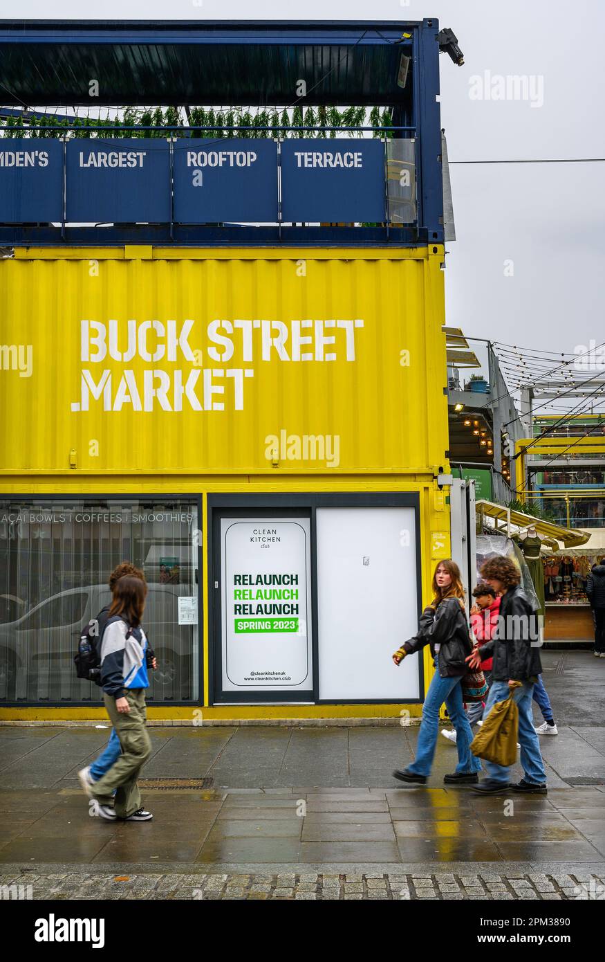
<path id="1" fill-rule="evenodd" d="M 7 122 L 7 117 L 13 124 L 17 112 L 27 117 L 31 107 L 38 108 L 39 131 L 39 108 L 45 105 L 60 110 L 62 106 L 134 108 L 162 104 L 185 108 L 186 112 L 189 105 L 198 104 L 299 107 L 303 111 L 308 106 L 329 105 L 387 108 L 392 128 L 388 136 L 414 139 L 414 146 L 411 161 L 405 151 L 391 161 L 386 151 L 386 193 L 389 194 L 388 182 L 397 165 L 403 168 L 412 164 L 416 191 L 412 209 L 416 219 L 400 217 L 398 223 L 397 217 L 391 216 L 387 196 L 386 215 L 364 218 L 374 222 L 374 226 L 331 228 L 293 224 L 284 225 L 284 230 L 281 224 L 279 230 L 260 226 L 254 229 L 255 237 L 249 242 L 442 242 L 438 100 L 441 51 L 446 51 L 455 63 L 462 63 L 456 38 L 451 31 L 440 33 L 438 21 L 431 18 L 417 22 L 311 23 L 0 20 L 0 101 L 5 107 L 4 116 L 0 111 L 0 126 Z M 91 82 L 95 84 L 94 96 L 90 95 Z M 201 133 L 202 137 L 207 136 Z M 57 131 L 53 136 L 56 134 Z M 345 131 L 340 136 L 343 134 Z M 7 138 L 15 136 L 20 135 L 6 132 Z M 300 136 L 313 139 L 317 135 L 308 130 L 301 131 Z M 332 147 L 337 142 L 332 140 Z M 88 143 L 92 145 L 94 140 Z M 330 141 L 324 143 L 328 147 Z M 20 146 L 23 145 L 24 141 Z M 3 219 L 5 224 L 11 223 L 7 215 L 0 215 Z M 30 216 L 26 219 L 31 223 Z M 35 218 L 38 223 L 42 219 Z M 135 231 L 135 236 L 144 242 L 248 242 L 241 236 L 242 230 L 248 230 L 245 227 L 225 223 L 189 227 L 186 222 L 175 223 L 177 218 L 172 210 L 168 226 L 152 225 L 153 219 L 140 216 L 137 220 L 148 222 L 147 227 L 139 223 L 128 230 Z M 311 216 L 304 219 L 314 222 Z M 346 219 L 362 220 L 356 216 Z M 110 218 L 99 216 L 96 220 L 100 223 Z M 115 227 L 65 228 L 64 221 L 62 240 L 85 241 L 84 236 L 76 236 L 78 230 L 87 230 L 87 242 L 134 240 L 130 234 L 126 238 L 123 227 L 118 237 Z M 334 237 L 331 230 L 336 231 Z M 344 232 L 351 230 L 354 235 L 345 237 Z M 94 238 L 90 231 L 95 231 Z M 143 239 L 145 231 L 148 236 Z M 231 239 L 229 231 L 235 231 L 237 238 Z M 299 238 L 297 232 L 301 231 Z M 56 242 L 55 234 L 50 225 L 32 228 L 15 226 L 13 221 L 11 227 L 0 226 L 0 242 L 5 243 Z"/>

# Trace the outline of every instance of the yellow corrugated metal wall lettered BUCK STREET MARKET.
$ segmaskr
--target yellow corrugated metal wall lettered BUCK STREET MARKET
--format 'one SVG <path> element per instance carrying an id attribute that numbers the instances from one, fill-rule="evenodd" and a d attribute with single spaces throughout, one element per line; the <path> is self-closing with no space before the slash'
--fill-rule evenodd
<path id="1" fill-rule="evenodd" d="M 266 250 L 230 251 L 228 258 L 224 251 L 208 252 L 204 259 L 189 259 L 187 251 L 181 259 L 174 252 L 160 259 L 155 251 L 153 260 L 124 260 L 123 252 L 122 259 L 107 259 L 103 250 L 83 252 L 82 260 L 74 254 L 0 262 L 3 472 L 68 472 L 71 450 L 76 471 L 89 474 L 338 473 L 443 463 L 441 247 L 395 257 L 338 251 L 327 258 L 325 251 L 303 250 L 290 258 Z M 97 347 L 87 338 L 82 342 L 85 320 L 104 325 L 107 345 L 109 321 L 115 321 L 116 349 L 122 352 L 128 321 L 136 322 L 135 356 L 116 360 L 108 351 L 93 360 Z M 141 332 L 151 320 L 160 324 Z M 167 356 L 170 320 L 177 337 L 193 321 L 173 347 L 173 359 Z M 212 341 L 214 320 L 229 322 L 218 328 L 226 342 Z M 349 323 L 355 320 L 363 326 Z M 86 330 L 96 336 L 99 329 Z M 279 333 L 281 357 L 275 346 L 265 345 L 264 359 L 264 336 Z M 298 348 L 292 342 L 297 335 Z M 322 347 L 317 335 L 335 342 Z M 307 337 L 312 340 L 302 340 Z M 295 360 L 297 351 L 311 358 Z M 335 360 L 327 359 L 331 353 Z M 83 370 L 91 388 L 104 385 L 98 399 L 83 391 Z M 182 411 L 174 410 L 175 387 L 178 397 L 179 384 L 189 378 Z M 205 396 L 205 378 L 223 393 Z M 164 401 L 153 393 L 163 385 Z M 211 401 L 224 410 L 209 410 Z M 202 410 L 194 409 L 196 403 Z M 141 410 L 133 410 L 137 406 Z M 278 439 L 277 465 L 267 456 L 270 436 Z M 305 447 L 304 436 L 323 439 L 325 449 L 321 441 Z"/>

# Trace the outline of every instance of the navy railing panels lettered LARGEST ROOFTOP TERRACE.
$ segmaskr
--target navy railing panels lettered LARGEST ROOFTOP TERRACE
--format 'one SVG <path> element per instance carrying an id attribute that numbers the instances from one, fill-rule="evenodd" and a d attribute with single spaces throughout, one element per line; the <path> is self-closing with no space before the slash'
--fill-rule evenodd
<path id="1" fill-rule="evenodd" d="M 0 243 L 420 238 L 412 126 L 0 130 Z"/>

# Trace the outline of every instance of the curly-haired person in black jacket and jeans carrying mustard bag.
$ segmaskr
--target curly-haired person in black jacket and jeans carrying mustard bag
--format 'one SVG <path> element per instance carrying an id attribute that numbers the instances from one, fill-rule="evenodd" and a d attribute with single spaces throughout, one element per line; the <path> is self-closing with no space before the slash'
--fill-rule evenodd
<path id="1" fill-rule="evenodd" d="M 493 659 L 492 688 L 484 722 L 496 701 L 513 696 L 517 702 L 523 778 L 517 785 L 511 785 L 508 768 L 486 761 L 488 777 L 472 788 L 483 795 L 497 795 L 511 789 L 525 795 L 546 795 L 546 773 L 532 715 L 534 685 L 542 673 L 537 613 L 519 587 L 520 571 L 509 558 L 501 555 L 489 558 L 480 573 L 482 580 L 491 585 L 496 594 L 501 594 L 500 613 L 492 640 L 481 646 L 480 653 L 476 648 L 466 661 L 470 668 L 477 669 L 481 661 Z"/>

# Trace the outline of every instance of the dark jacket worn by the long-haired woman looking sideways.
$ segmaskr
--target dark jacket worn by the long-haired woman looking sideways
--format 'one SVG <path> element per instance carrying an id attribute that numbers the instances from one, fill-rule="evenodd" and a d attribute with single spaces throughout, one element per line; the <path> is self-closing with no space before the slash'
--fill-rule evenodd
<path id="1" fill-rule="evenodd" d="M 472 650 L 465 610 L 458 598 L 445 598 L 435 611 L 430 606 L 420 616 L 414 638 L 403 646 L 407 654 L 431 646 L 441 678 L 466 674 L 466 655 Z M 439 650 L 438 650 L 439 647 Z"/>

